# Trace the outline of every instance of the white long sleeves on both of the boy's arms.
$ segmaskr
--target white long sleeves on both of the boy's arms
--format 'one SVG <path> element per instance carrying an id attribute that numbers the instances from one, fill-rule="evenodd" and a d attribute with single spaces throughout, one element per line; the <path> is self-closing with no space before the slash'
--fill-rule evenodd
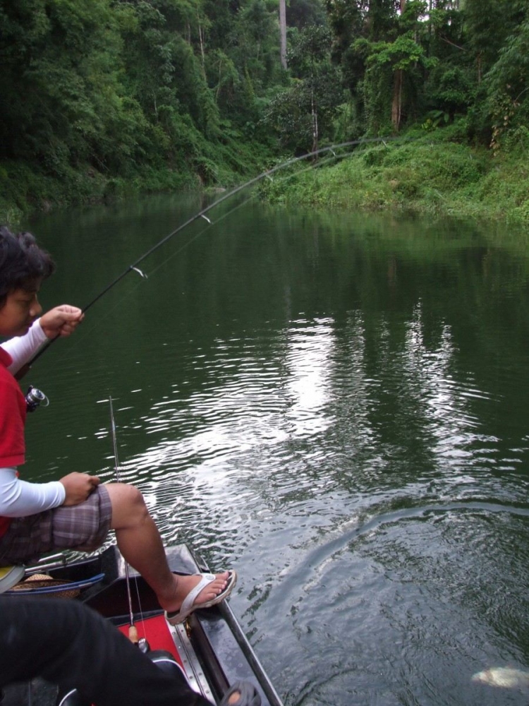
<path id="1" fill-rule="evenodd" d="M 1 344 L 13 359 L 8 370 L 14 375 L 25 365 L 38 349 L 47 342 L 39 323 L 35 321 L 23 336 L 16 336 Z M 16 468 L 0 468 L 0 516 L 26 517 L 44 510 L 58 508 L 66 498 L 66 490 L 60 481 L 28 483 L 18 477 Z"/>

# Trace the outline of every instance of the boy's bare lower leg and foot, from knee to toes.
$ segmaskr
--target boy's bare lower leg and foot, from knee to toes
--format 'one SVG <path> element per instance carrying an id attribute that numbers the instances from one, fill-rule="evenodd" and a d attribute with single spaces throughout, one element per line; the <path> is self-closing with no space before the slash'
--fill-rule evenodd
<path id="1" fill-rule="evenodd" d="M 190 590 L 197 585 L 197 576 L 176 576 L 171 572 L 165 556 L 162 537 L 147 510 L 140 491 L 134 486 L 110 483 L 112 503 L 111 528 L 116 530 L 119 551 L 138 571 L 157 594 L 160 606 L 168 612 L 178 611 Z M 210 601 L 227 585 L 229 573 L 217 574 L 195 598 L 195 603 Z"/>

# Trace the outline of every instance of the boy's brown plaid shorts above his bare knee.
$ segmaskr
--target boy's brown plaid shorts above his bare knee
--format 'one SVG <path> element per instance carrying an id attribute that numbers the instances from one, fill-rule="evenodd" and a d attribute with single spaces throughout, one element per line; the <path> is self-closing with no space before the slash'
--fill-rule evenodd
<path id="1" fill-rule="evenodd" d="M 80 505 L 29 517 L 15 517 L 0 537 L 0 566 L 35 561 L 49 551 L 78 549 L 94 551 L 109 533 L 112 505 L 109 491 L 97 486 Z"/>

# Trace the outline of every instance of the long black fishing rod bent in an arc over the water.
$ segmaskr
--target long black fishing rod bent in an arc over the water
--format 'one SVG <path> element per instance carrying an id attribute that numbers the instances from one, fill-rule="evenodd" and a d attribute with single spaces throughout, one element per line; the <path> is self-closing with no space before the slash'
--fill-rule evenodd
<path id="1" fill-rule="evenodd" d="M 329 145 L 328 147 L 322 147 L 318 150 L 313 150 L 312 152 L 306 152 L 305 155 L 300 155 L 299 157 L 292 157 L 290 160 L 286 160 L 286 162 L 281 162 L 281 164 L 277 164 L 275 167 L 272 167 L 271 169 L 267 169 L 265 172 L 261 172 L 261 174 L 258 174 L 257 177 L 253 177 L 253 179 L 249 179 L 248 181 L 245 181 L 244 184 L 241 184 L 240 186 L 236 186 L 235 189 L 231 189 L 231 191 L 224 193 L 222 196 L 217 198 L 216 201 L 213 201 L 205 208 L 202 208 L 202 210 L 195 213 L 195 215 L 188 218 L 188 220 L 183 222 L 181 225 L 179 225 L 177 228 L 175 228 L 173 231 L 171 231 L 168 235 L 164 236 L 161 240 L 159 240 L 157 243 L 155 243 L 150 249 L 145 251 L 145 253 L 143 253 L 142 256 L 140 256 L 138 258 L 138 260 L 133 262 L 132 265 L 128 265 L 128 268 L 126 268 L 126 270 L 123 270 L 121 275 L 118 275 L 118 277 L 116 277 L 114 280 L 112 280 L 112 282 L 110 282 L 109 285 L 104 287 L 104 289 L 102 289 L 101 292 L 99 292 L 99 294 L 97 294 L 96 297 L 94 297 L 91 301 L 89 301 L 88 304 L 86 304 L 86 306 L 81 311 L 83 313 L 88 311 L 88 309 L 90 309 L 92 306 L 94 306 L 94 304 L 97 301 L 99 301 L 99 299 L 104 297 L 104 295 L 107 294 L 107 292 L 109 292 L 110 289 L 113 289 L 113 287 L 115 287 L 118 284 L 118 282 L 121 282 L 121 280 L 123 280 L 123 277 L 126 277 L 126 275 L 128 275 L 128 273 L 130 273 L 130 272 L 134 271 L 134 272 L 138 273 L 141 277 L 144 277 L 146 279 L 147 275 L 145 275 L 142 272 L 142 270 L 140 270 L 140 268 L 139 268 L 139 265 L 144 260 L 146 260 L 150 255 L 152 255 L 152 253 L 154 253 L 154 251 L 157 251 L 159 248 L 162 247 L 162 245 L 166 244 L 166 242 L 171 240 L 171 238 L 173 238 L 176 234 L 183 231 L 183 229 L 190 226 L 196 220 L 199 220 L 200 218 L 202 218 L 205 221 L 207 221 L 207 223 L 209 225 L 212 225 L 212 221 L 209 220 L 209 217 L 207 217 L 207 213 L 209 213 L 210 210 L 212 210 L 213 208 L 215 208 L 219 204 L 223 203 L 223 201 L 226 201 L 227 199 L 231 198 L 232 196 L 235 196 L 240 191 L 243 191 L 243 189 L 248 189 L 249 186 L 253 186 L 254 184 L 257 184 L 262 179 L 272 179 L 272 174 L 279 172 L 281 169 L 286 169 L 287 167 L 291 167 L 293 164 L 296 164 L 297 162 L 302 162 L 303 160 L 310 160 L 310 158 L 312 158 L 312 157 L 318 157 L 319 155 L 323 155 L 327 152 L 330 152 L 330 154 L 334 158 L 339 159 L 339 157 L 341 157 L 341 156 L 343 157 L 343 156 L 349 155 L 350 152 L 346 152 L 346 155 L 336 155 L 336 150 L 343 150 L 345 148 L 355 148 L 355 147 L 358 147 L 358 145 L 365 145 L 365 144 L 369 144 L 369 143 L 383 143 L 383 144 L 385 144 L 387 142 L 391 142 L 394 140 L 401 140 L 402 141 L 402 138 L 398 138 L 398 137 L 362 138 L 360 140 L 351 140 L 349 142 L 342 142 L 337 145 Z M 26 364 L 23 367 L 23 369 L 20 371 L 20 373 L 21 373 L 20 376 L 17 375 L 17 377 L 18 378 L 22 377 L 23 374 L 25 374 L 25 372 L 28 371 L 28 369 L 30 369 L 32 364 L 35 363 L 35 361 L 37 359 L 39 359 L 39 357 L 41 357 L 42 354 L 45 351 L 47 351 L 47 349 L 49 349 L 51 344 L 54 341 L 56 341 L 57 338 L 59 338 L 59 337 L 60 337 L 60 334 L 56 335 L 54 338 L 51 338 L 49 341 L 47 341 L 47 343 L 32 357 L 32 359 L 30 359 L 28 364 Z"/>

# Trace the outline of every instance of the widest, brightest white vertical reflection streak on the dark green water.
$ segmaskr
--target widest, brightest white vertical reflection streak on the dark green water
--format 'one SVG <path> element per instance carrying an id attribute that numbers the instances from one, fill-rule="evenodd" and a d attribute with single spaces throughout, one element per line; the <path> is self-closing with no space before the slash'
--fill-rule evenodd
<path id="1" fill-rule="evenodd" d="M 331 323 L 329 318 L 316 319 L 288 332 L 287 390 L 293 403 L 287 416 L 295 436 L 309 436 L 330 424 L 324 405 L 329 399 L 329 359 L 334 351 Z"/>

